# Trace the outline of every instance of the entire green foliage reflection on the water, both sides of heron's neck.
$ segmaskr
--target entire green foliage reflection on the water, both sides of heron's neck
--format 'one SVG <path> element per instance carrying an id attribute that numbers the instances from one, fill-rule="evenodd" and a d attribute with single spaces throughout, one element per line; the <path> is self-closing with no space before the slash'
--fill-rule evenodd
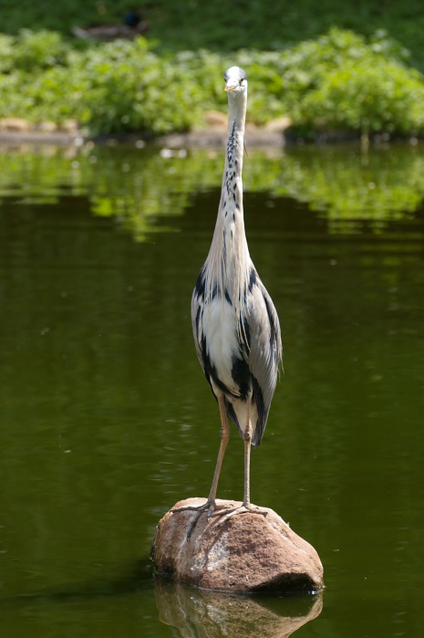
<path id="1" fill-rule="evenodd" d="M 411 214 L 424 197 L 424 150 L 406 145 L 360 152 L 357 147 L 289 149 L 281 156 L 249 152 L 246 192 L 289 196 L 319 210 L 333 232 L 351 233 L 367 220 L 376 231 Z M 80 152 L 0 154 L 0 202 L 57 202 L 88 196 L 94 214 L 115 215 L 140 241 L 163 228 L 159 218 L 183 214 L 196 193 L 219 188 L 222 152 L 86 147 Z"/>

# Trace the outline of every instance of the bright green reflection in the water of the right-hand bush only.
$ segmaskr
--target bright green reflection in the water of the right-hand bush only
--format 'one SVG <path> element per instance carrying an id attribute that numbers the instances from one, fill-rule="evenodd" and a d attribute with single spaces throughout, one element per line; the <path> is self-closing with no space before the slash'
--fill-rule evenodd
<path id="1" fill-rule="evenodd" d="M 321 211 L 334 232 L 367 220 L 377 232 L 419 208 L 424 197 L 424 153 L 406 146 L 370 152 L 346 148 L 290 152 L 283 193 Z"/>

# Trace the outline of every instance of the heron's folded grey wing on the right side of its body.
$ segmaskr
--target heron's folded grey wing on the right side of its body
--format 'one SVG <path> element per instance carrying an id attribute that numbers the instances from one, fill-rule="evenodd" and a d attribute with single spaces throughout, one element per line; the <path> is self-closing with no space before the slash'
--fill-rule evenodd
<path id="1" fill-rule="evenodd" d="M 283 346 L 273 300 L 257 275 L 248 293 L 246 319 L 250 335 L 249 369 L 253 375 L 253 398 L 258 410 L 252 443 L 259 445 L 274 396 L 278 368 L 283 362 Z"/>

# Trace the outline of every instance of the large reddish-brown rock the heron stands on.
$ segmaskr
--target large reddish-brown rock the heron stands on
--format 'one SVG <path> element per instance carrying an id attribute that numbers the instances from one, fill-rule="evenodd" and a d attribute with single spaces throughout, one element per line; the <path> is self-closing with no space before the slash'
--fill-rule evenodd
<path id="1" fill-rule="evenodd" d="M 152 547 L 155 569 L 174 580 L 221 591 L 319 591 L 323 566 L 315 549 L 272 509 L 225 517 L 204 512 L 187 531 L 204 498 L 179 501 L 160 519 Z M 242 504 L 217 500 L 228 508 Z M 179 511 L 180 510 L 180 511 Z"/>

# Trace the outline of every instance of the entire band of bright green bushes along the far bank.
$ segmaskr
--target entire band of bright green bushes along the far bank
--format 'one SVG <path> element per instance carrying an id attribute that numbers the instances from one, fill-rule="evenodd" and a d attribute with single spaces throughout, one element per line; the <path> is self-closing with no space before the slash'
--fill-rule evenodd
<path id="1" fill-rule="evenodd" d="M 379 31 L 370 38 L 331 29 L 283 52 L 241 49 L 158 55 L 133 42 L 71 47 L 57 33 L 0 36 L 0 117 L 77 119 L 91 133 L 187 131 L 202 111 L 226 110 L 223 71 L 249 78 L 248 118 L 288 115 L 294 128 L 402 134 L 424 129 L 424 78 L 408 52 Z"/>

